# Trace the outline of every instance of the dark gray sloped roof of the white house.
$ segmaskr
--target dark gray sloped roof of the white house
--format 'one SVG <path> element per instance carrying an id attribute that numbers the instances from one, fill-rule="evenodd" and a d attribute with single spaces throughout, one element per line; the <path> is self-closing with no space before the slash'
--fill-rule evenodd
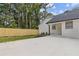
<path id="1" fill-rule="evenodd" d="M 63 14 L 56 15 L 51 20 L 49 20 L 47 23 L 55 23 L 55 22 L 74 20 L 74 19 L 79 19 L 79 9 L 74 9 L 72 11 L 66 11 Z"/>

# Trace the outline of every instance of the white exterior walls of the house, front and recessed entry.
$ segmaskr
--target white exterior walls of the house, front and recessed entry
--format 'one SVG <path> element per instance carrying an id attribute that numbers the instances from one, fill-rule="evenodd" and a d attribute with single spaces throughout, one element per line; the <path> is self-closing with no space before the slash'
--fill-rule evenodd
<path id="1" fill-rule="evenodd" d="M 61 30 L 62 30 L 62 36 L 65 37 L 71 37 L 71 38 L 79 38 L 79 19 L 78 20 L 72 20 L 73 21 L 73 28 L 72 29 L 66 29 L 65 28 L 65 22 L 56 22 L 56 23 L 49 23 L 50 25 L 50 34 L 58 34 L 57 30 L 52 30 L 52 25 L 53 24 L 58 24 L 61 23 Z"/>

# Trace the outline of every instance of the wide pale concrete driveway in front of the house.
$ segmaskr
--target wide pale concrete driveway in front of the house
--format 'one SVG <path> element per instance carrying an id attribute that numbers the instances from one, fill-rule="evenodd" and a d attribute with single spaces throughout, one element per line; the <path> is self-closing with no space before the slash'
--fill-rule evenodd
<path id="1" fill-rule="evenodd" d="M 60 36 L 0 43 L 2 56 L 79 56 L 79 39 Z"/>

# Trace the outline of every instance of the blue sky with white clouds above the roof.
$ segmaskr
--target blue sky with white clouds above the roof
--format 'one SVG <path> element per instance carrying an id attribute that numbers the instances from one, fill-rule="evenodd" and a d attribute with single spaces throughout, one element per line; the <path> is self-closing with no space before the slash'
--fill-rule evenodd
<path id="1" fill-rule="evenodd" d="M 51 8 L 48 8 L 47 11 L 54 15 L 61 14 L 66 10 L 71 10 L 74 7 L 79 6 L 79 3 L 51 3 L 48 6 L 53 5 Z"/>

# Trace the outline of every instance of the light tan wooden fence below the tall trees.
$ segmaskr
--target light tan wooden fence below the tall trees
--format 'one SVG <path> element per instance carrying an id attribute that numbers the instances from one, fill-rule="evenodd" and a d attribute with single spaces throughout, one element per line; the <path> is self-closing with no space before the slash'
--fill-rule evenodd
<path id="1" fill-rule="evenodd" d="M 38 35 L 38 30 L 0 28 L 0 36 L 23 36 L 23 35 Z"/>

